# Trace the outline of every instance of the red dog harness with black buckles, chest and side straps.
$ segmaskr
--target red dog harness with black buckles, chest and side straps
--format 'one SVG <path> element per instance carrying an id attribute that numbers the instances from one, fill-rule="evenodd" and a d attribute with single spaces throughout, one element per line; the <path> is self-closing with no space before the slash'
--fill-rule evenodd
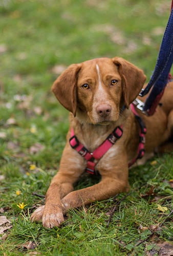
<path id="1" fill-rule="evenodd" d="M 128 167 L 131 166 L 136 162 L 137 159 L 142 158 L 144 155 L 144 143 L 145 143 L 145 133 L 146 133 L 146 127 L 141 119 L 141 117 L 137 114 L 135 111 L 134 106 L 131 104 L 132 111 L 135 114 L 135 117 L 137 118 L 139 125 L 140 125 L 140 135 L 139 135 L 139 146 L 138 146 L 138 155 L 130 162 L 128 163 Z M 70 145 L 72 148 L 74 148 L 84 159 L 87 160 L 87 172 L 90 174 L 95 174 L 95 163 L 94 160 L 99 160 L 109 149 L 112 147 L 112 145 L 115 144 L 115 142 L 121 138 L 122 136 L 122 126 L 117 126 L 114 131 L 105 139 L 105 141 L 96 148 L 96 150 L 93 153 L 90 153 L 87 148 L 85 148 L 77 139 L 77 137 L 74 135 L 74 131 L 72 129 L 71 132 L 71 138 L 69 140 Z"/>

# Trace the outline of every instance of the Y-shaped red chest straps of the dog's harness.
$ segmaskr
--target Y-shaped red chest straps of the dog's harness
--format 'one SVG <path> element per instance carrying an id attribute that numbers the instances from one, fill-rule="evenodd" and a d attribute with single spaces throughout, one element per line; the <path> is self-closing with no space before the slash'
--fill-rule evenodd
<path id="1" fill-rule="evenodd" d="M 87 148 L 85 148 L 74 135 L 74 131 L 71 131 L 71 138 L 69 140 L 70 145 L 74 148 L 87 162 L 87 172 L 90 174 L 95 174 L 95 163 L 93 162 L 94 159 L 99 160 L 115 142 L 121 138 L 122 136 L 122 126 L 118 126 L 114 129 L 114 131 L 105 139 L 105 141 L 96 148 L 93 153 L 90 153 Z"/>

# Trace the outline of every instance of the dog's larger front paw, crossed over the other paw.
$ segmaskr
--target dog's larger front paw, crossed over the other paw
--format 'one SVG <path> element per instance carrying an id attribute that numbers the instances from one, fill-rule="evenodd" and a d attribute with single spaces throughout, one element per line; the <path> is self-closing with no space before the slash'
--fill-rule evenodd
<path id="1" fill-rule="evenodd" d="M 49 205 L 45 207 L 42 215 L 42 225 L 52 228 L 58 227 L 64 221 L 62 207 L 59 205 Z"/>

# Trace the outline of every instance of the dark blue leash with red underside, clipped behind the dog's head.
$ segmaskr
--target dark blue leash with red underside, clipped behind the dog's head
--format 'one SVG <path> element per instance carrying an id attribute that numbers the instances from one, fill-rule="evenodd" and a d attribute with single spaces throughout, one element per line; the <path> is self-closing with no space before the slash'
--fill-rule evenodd
<path id="1" fill-rule="evenodd" d="M 162 39 L 158 59 L 154 73 L 148 82 L 145 89 L 139 94 L 141 97 L 146 95 L 153 87 L 142 108 L 143 113 L 153 115 L 156 110 L 156 106 L 163 95 L 167 82 L 171 79 L 169 72 L 173 62 L 173 8 L 170 12 L 170 17 L 166 26 L 166 30 Z M 138 108 L 138 105 L 137 105 Z"/>

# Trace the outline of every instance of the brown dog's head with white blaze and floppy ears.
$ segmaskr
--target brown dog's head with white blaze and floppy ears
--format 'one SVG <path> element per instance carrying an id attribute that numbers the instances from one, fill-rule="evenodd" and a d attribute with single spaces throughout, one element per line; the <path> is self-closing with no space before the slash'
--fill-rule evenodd
<path id="1" fill-rule="evenodd" d="M 116 122 L 121 109 L 138 96 L 145 82 L 143 71 L 115 57 L 71 65 L 54 82 L 59 102 L 79 119 L 92 124 Z"/>

